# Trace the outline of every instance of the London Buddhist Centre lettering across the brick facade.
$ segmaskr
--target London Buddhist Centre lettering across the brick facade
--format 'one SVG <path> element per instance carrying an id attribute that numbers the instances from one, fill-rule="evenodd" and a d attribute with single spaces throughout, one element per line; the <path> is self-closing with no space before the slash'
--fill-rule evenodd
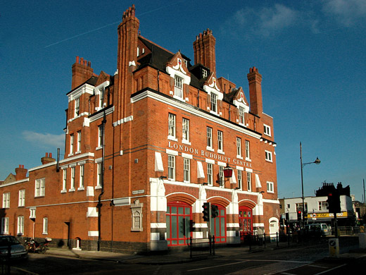
<path id="1" fill-rule="evenodd" d="M 226 163 L 230 163 L 230 160 L 231 160 L 232 163 L 235 165 L 249 167 L 249 168 L 251 168 L 251 166 L 252 166 L 251 163 L 243 161 L 242 159 L 225 157 L 222 154 L 215 154 L 214 152 L 188 147 L 187 145 L 179 145 L 177 143 L 171 143 L 170 141 L 168 141 L 168 147 L 177 149 L 182 152 L 195 154 L 196 156 L 206 157 L 208 159 L 216 159 L 217 161 L 222 161 L 222 162 L 226 162 Z"/>

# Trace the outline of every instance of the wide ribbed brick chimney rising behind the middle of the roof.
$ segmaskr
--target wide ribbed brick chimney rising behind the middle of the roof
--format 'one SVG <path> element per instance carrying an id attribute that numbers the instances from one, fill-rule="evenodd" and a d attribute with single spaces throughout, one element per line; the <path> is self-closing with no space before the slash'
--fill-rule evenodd
<path id="1" fill-rule="evenodd" d="M 201 63 L 210 68 L 213 73 L 216 73 L 215 44 L 216 39 L 213 37 L 213 31 L 209 29 L 197 35 L 196 41 L 193 42 L 194 63 Z"/>

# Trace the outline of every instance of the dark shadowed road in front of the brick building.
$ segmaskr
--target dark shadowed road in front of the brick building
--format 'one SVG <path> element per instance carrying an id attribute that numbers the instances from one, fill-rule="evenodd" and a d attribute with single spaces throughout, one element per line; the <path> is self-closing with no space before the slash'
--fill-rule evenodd
<path id="1" fill-rule="evenodd" d="M 341 251 L 342 253 L 342 251 Z M 357 261 L 327 259 L 327 243 L 310 247 L 289 247 L 256 253 L 229 255 L 227 250 L 217 250 L 217 257 L 184 264 L 122 264 L 115 261 L 77 259 L 53 255 L 31 254 L 26 262 L 14 267 L 28 274 L 343 274 L 365 267 L 366 258 Z"/>

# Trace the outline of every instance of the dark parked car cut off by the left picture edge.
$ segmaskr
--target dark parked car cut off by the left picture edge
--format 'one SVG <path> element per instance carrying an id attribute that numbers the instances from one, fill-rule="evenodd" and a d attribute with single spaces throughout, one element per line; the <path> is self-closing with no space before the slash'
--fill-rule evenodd
<path id="1" fill-rule="evenodd" d="M 10 247 L 11 259 L 27 259 L 28 252 L 14 236 L 0 236 L 0 257 L 7 257 Z"/>

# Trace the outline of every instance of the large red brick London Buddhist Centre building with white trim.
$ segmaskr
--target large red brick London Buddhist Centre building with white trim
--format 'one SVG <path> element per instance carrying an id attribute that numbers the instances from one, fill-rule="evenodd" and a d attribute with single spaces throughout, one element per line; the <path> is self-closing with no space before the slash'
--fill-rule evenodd
<path id="1" fill-rule="evenodd" d="M 1 233 L 84 250 L 166 250 L 207 238 L 204 202 L 219 210 L 217 243 L 277 232 L 276 143 L 262 75 L 249 69 L 248 101 L 243 88 L 217 78 L 211 30 L 196 37 L 192 62 L 139 35 L 134 13 L 118 26 L 114 75 L 96 75 L 79 57 L 72 65 L 65 157 L 46 154 L 0 185 Z"/>

